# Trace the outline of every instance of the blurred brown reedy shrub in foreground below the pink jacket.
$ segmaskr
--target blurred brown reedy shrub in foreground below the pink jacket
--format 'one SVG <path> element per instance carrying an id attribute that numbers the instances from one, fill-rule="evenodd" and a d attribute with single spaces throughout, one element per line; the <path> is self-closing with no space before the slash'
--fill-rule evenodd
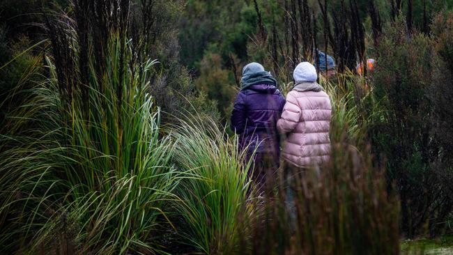
<path id="1" fill-rule="evenodd" d="M 318 169 L 280 169 L 278 192 L 247 222 L 247 254 L 399 254 L 398 199 L 385 172 L 348 144 L 331 157 Z"/>

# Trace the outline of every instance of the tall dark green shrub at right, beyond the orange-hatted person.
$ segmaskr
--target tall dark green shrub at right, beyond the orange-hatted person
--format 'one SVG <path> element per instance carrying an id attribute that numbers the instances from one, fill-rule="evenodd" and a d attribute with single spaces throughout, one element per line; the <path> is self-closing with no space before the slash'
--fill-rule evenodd
<path id="1" fill-rule="evenodd" d="M 445 190 L 451 177 L 433 164 L 439 160 L 440 150 L 430 138 L 433 107 L 429 93 L 436 90 L 433 70 L 437 55 L 433 40 L 406 31 L 401 17 L 387 26 L 378 52 L 374 94 L 383 98 L 385 121 L 371 127 L 369 135 L 374 152 L 387 156 L 389 181 L 399 187 L 402 230 L 414 235 L 428 220 L 430 229 L 435 229 L 433 222 L 445 219 L 439 211 L 452 208 L 450 192 Z"/>

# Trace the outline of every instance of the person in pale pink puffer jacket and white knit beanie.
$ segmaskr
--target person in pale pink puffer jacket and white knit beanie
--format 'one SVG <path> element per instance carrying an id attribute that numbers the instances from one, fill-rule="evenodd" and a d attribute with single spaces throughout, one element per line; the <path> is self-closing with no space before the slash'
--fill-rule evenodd
<path id="1" fill-rule="evenodd" d="M 282 157 L 293 167 L 310 167 L 329 160 L 330 98 L 316 83 L 318 75 L 311 63 L 294 70 L 295 86 L 286 95 L 279 132 L 287 135 Z"/>

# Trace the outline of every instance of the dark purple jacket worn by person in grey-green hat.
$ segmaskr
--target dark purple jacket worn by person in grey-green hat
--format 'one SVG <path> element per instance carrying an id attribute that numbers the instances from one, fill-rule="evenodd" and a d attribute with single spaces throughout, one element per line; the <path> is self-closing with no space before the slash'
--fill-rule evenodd
<path id="1" fill-rule="evenodd" d="M 277 121 L 285 104 L 273 85 L 259 84 L 240 91 L 231 115 L 231 128 L 240 134 L 240 146 L 249 152 L 279 155 Z"/>

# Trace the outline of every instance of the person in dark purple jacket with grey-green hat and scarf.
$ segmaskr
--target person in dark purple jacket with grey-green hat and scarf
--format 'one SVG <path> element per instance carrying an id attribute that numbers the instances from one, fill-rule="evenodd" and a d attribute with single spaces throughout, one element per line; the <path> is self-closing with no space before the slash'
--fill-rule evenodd
<path id="1" fill-rule="evenodd" d="M 252 178 L 259 189 L 266 183 L 266 174 L 279 166 L 279 132 L 277 121 L 285 104 L 277 89 L 277 81 L 259 63 L 249 63 L 243 68 L 241 90 L 231 114 L 231 128 L 239 134 L 241 149 L 248 146 L 247 155 L 253 158 Z"/>

